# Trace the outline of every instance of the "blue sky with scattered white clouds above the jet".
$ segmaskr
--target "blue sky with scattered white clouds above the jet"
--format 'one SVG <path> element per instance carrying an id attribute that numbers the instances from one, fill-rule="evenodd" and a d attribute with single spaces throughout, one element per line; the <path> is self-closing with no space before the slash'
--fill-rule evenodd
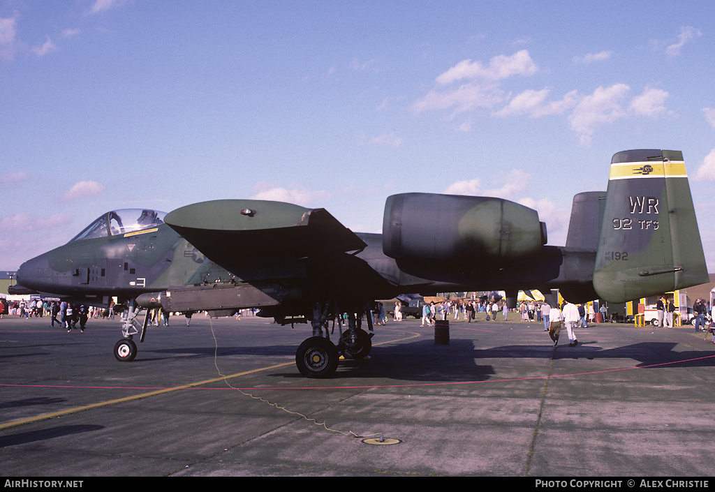
<path id="1" fill-rule="evenodd" d="M 573 195 L 654 148 L 684 152 L 714 272 L 713 26 L 711 1 L 0 0 L 0 269 L 225 198 L 380 232 L 395 193 L 498 196 L 563 245 Z"/>

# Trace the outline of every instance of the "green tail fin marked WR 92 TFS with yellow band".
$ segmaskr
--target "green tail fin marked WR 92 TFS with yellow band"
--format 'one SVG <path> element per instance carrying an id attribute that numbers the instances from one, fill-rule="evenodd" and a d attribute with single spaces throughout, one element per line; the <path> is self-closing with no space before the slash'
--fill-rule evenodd
<path id="1" fill-rule="evenodd" d="M 627 150 L 611 159 L 593 287 L 608 302 L 709 282 L 683 154 Z"/>

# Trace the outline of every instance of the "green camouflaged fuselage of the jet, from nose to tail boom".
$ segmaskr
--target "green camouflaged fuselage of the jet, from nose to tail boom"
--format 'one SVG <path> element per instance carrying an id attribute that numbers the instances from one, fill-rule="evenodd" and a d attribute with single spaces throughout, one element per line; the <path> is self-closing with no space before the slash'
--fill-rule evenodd
<path id="1" fill-rule="evenodd" d="M 330 297 L 388 299 L 399 294 L 467 290 L 592 290 L 595 251 L 544 247 L 539 257 L 508 265 L 485 265 L 475 255 L 460 265 L 398 261 L 383 253 L 382 235 L 358 234 L 367 245 L 323 268 L 320 259 L 297 259 L 299 274 L 255 284 L 278 283 L 300 290 L 301 300 Z M 250 260 L 247 260 L 250 261 Z M 290 276 L 292 275 L 292 277 Z M 280 275 L 278 275 L 280 277 Z M 145 292 L 186 285 L 245 280 L 208 260 L 166 224 L 123 234 L 75 239 L 24 262 L 18 284 L 36 292 L 107 305 L 110 297 L 131 300 Z M 587 297 L 588 298 L 588 297 Z"/>

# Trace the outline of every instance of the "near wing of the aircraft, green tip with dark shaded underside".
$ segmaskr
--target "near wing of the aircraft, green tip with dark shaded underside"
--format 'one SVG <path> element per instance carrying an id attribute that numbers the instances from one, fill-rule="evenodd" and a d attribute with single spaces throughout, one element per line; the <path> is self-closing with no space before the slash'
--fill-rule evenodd
<path id="1" fill-rule="evenodd" d="M 216 200 L 174 210 L 164 222 L 209 260 L 236 275 L 241 289 L 254 287 L 275 301 L 261 300 L 262 305 L 341 297 L 363 302 L 392 294 L 394 285 L 357 256 L 368 244 L 323 209 L 262 200 Z M 191 297 L 202 287 L 186 288 L 192 290 Z M 259 305 L 247 300 L 245 292 L 240 297 L 229 303 Z"/>

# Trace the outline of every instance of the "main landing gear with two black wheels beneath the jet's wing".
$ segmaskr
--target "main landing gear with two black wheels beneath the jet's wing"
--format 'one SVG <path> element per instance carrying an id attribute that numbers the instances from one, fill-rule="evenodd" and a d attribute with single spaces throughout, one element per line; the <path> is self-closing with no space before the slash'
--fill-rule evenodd
<path id="1" fill-rule="evenodd" d="M 340 336 L 335 345 L 328 334 L 328 320 L 322 315 L 320 306 L 316 306 L 311 321 L 313 336 L 304 340 L 295 352 L 295 365 L 300 373 L 307 378 L 330 378 L 337 370 L 340 354 L 355 360 L 368 357 L 373 348 L 373 320 L 370 318 L 370 311 L 366 311 L 365 317 L 370 330 L 368 333 L 360 326 L 362 314 L 355 316 L 350 313 L 347 317 L 347 330 L 344 332 L 340 315 L 337 315 Z"/>

